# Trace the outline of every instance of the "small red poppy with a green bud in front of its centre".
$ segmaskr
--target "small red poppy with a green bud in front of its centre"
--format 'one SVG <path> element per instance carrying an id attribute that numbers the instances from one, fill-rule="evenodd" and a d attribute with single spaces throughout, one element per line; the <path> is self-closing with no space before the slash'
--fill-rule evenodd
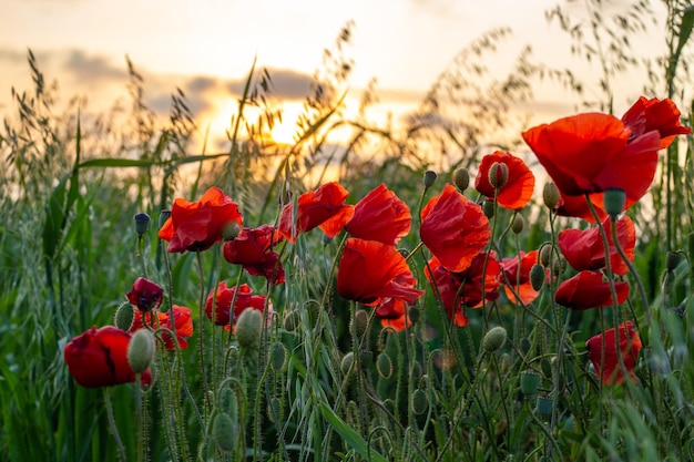
<path id="1" fill-rule="evenodd" d="M 489 170 L 494 163 L 502 163 L 509 168 L 509 177 L 497 194 L 497 203 L 502 207 L 517 211 L 530 202 L 535 187 L 535 176 L 528 165 L 511 153 L 494 151 L 482 157 L 479 172 L 474 178 L 474 188 L 489 199 L 493 199 L 496 188 L 489 183 Z"/>

